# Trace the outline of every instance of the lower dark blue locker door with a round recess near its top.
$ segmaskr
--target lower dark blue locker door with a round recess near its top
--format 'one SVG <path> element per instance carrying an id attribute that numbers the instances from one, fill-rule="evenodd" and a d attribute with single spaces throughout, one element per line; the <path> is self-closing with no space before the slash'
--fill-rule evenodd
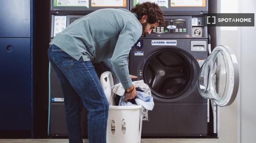
<path id="1" fill-rule="evenodd" d="M 30 39 L 0 38 L 0 131 L 31 130 Z"/>

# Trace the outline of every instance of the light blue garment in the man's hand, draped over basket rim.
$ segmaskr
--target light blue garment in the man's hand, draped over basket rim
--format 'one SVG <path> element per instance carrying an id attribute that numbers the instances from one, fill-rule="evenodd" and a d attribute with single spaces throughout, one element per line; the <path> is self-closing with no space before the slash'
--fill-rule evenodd
<path id="1" fill-rule="evenodd" d="M 119 100 L 119 106 L 142 105 L 145 109 L 148 109 L 148 110 L 152 110 L 154 107 L 153 97 L 140 91 L 137 91 L 137 96 L 135 96 L 134 98 L 136 104 L 132 104 L 129 100 L 124 101 L 124 99 L 125 99 L 125 95 L 122 95 Z"/>

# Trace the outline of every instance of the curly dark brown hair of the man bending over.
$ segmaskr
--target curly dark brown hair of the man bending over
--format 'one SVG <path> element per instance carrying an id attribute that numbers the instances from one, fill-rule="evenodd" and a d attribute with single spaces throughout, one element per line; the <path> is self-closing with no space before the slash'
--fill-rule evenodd
<path id="1" fill-rule="evenodd" d="M 141 19 L 143 15 L 148 15 L 147 22 L 153 24 L 157 22 L 158 24 L 164 24 L 163 11 L 156 3 L 142 3 L 137 4 L 134 8 L 131 9 L 132 13 L 136 13 L 138 19 Z"/>

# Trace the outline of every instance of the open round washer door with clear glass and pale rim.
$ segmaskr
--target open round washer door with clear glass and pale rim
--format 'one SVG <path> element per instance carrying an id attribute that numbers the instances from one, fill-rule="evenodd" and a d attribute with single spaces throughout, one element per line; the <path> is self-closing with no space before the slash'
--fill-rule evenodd
<path id="1" fill-rule="evenodd" d="M 236 56 L 227 46 L 217 46 L 198 73 L 198 89 L 202 97 L 218 106 L 228 106 L 236 99 L 239 68 Z"/>

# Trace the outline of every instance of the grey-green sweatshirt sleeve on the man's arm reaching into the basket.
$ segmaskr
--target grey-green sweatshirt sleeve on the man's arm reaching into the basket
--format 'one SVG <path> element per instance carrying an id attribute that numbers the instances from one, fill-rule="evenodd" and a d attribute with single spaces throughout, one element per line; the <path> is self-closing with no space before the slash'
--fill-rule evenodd
<path id="1" fill-rule="evenodd" d="M 111 57 L 113 71 L 124 89 L 132 86 L 128 70 L 128 54 L 131 47 L 142 34 L 142 26 L 137 21 L 125 22 L 118 36 L 116 47 Z"/>

